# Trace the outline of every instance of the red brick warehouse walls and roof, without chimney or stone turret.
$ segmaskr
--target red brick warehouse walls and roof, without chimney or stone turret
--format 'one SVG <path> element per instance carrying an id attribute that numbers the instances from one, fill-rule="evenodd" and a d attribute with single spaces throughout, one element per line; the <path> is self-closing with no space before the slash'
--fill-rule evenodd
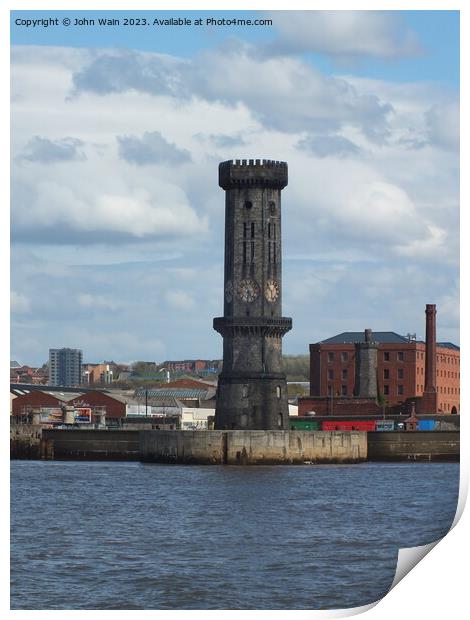
<path id="1" fill-rule="evenodd" d="M 356 343 L 361 332 L 343 332 L 310 345 L 310 398 L 299 399 L 299 415 L 314 410 L 331 414 L 343 408 L 373 414 L 374 405 L 360 404 L 356 386 Z M 426 343 L 395 332 L 374 332 L 377 343 L 377 396 L 388 407 L 422 399 L 426 387 Z M 435 413 L 460 413 L 460 349 L 450 342 L 435 343 Z M 323 399 L 323 400 L 322 400 Z M 376 412 L 380 409 L 377 408 Z"/>

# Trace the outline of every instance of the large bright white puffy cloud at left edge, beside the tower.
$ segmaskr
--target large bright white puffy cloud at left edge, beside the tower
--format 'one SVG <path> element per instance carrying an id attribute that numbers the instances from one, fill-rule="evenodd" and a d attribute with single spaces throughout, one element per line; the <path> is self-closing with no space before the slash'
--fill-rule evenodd
<path id="1" fill-rule="evenodd" d="M 124 166 L 125 164 L 121 164 Z M 207 219 L 180 187 L 152 175 L 143 185 L 112 159 L 13 171 L 13 232 L 55 243 L 122 242 L 205 235 Z"/>

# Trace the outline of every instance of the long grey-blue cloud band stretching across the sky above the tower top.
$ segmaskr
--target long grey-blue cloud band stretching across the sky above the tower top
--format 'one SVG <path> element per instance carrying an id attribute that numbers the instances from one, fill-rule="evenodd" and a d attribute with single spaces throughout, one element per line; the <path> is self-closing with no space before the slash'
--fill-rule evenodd
<path id="1" fill-rule="evenodd" d="M 266 127 L 283 132 L 362 129 L 374 142 L 387 136 L 392 106 L 359 94 L 346 80 L 325 76 L 298 58 L 266 58 L 242 42 L 206 51 L 191 60 L 138 52 L 104 53 L 73 76 L 75 94 L 137 90 L 244 104 Z M 230 71 L 227 70 L 230 68 Z"/>

